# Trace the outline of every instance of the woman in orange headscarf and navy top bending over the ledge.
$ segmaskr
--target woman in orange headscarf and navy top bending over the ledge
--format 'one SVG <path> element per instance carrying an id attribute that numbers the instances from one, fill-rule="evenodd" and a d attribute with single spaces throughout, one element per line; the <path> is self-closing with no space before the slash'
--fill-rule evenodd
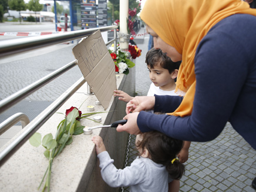
<path id="1" fill-rule="evenodd" d="M 207 142 L 229 121 L 256 149 L 256 9 L 240 0 L 147 0 L 140 18 L 154 48 L 182 60 L 180 97 L 135 97 L 117 131 Z M 153 107 L 170 115 L 142 111 Z"/>

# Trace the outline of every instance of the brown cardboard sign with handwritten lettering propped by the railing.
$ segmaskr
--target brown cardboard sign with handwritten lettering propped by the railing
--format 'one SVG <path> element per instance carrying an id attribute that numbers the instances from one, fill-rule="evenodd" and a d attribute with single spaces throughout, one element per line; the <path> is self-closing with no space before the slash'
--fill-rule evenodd
<path id="1" fill-rule="evenodd" d="M 102 34 L 96 31 L 78 43 L 72 51 L 86 82 L 106 109 L 117 86 L 114 62 Z"/>

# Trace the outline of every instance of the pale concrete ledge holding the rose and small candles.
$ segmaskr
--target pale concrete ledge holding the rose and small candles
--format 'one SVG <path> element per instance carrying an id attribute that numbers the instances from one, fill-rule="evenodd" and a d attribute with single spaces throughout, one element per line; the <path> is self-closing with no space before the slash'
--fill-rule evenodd
<path id="1" fill-rule="evenodd" d="M 127 76 L 119 75 L 120 79 L 117 79 L 118 89 L 134 96 L 135 69 L 130 69 L 130 73 Z M 104 109 L 101 105 L 95 105 L 95 100 L 97 100 L 95 95 L 85 95 L 87 92 L 86 87 L 86 85 L 83 85 L 60 107 L 58 112 L 65 113 L 66 109 L 71 106 L 80 107 L 85 99 L 86 102 L 80 107 L 82 113 L 89 113 L 86 111 L 88 105 L 95 106 L 95 112 L 103 112 Z M 108 113 L 100 114 L 102 116 L 101 123 L 110 124 L 116 120 L 123 119 L 125 107 L 126 103 L 121 102 L 117 97 L 112 97 L 110 106 L 106 109 Z M 55 137 L 56 127 L 61 120 L 63 120 L 62 114 L 53 114 L 38 132 L 42 136 L 52 133 L 53 137 Z M 83 126 L 100 125 L 87 119 L 82 119 L 81 124 Z M 3 150 L 27 127 L 29 127 L 29 124 L 0 150 Z M 95 145 L 91 141 L 96 134 L 102 136 L 106 149 L 114 159 L 117 169 L 123 168 L 128 134 L 124 132 L 118 133 L 113 128 L 95 129 L 93 134 L 90 135 L 80 134 L 79 136 L 73 136 L 72 144 L 66 146 L 62 153 L 53 160 L 50 191 L 119 191 L 119 188 L 107 186 L 100 176 L 99 160 L 96 157 Z M 48 160 L 43 156 L 44 151 L 45 149 L 42 146 L 36 148 L 31 146 L 29 142 L 23 144 L 0 168 L 0 191 L 38 191 L 37 188 L 48 167 Z"/>

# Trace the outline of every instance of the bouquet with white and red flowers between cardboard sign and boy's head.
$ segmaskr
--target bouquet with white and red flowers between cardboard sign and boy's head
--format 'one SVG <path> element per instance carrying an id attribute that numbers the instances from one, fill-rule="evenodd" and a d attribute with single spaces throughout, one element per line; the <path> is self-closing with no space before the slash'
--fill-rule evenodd
<path id="1" fill-rule="evenodd" d="M 114 61 L 114 65 L 116 66 L 116 72 L 128 75 L 129 68 L 133 68 L 135 66 L 135 63 L 133 63 L 132 60 L 127 59 L 129 52 L 124 53 L 119 49 L 117 50 L 117 53 L 112 52 L 112 50 L 109 50 L 109 53 Z"/>

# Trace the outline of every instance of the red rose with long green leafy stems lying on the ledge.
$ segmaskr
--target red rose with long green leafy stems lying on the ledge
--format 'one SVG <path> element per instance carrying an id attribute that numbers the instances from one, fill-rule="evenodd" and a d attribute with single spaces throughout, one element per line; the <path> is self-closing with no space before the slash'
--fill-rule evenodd
<path id="1" fill-rule="evenodd" d="M 105 113 L 105 112 L 96 112 L 96 113 Z M 41 188 L 43 181 L 46 181 L 43 185 L 42 191 L 45 191 L 45 188 L 48 188 L 50 191 L 50 175 L 52 173 L 52 163 L 53 159 L 55 159 L 60 152 L 65 149 L 64 147 L 71 144 L 73 142 L 72 136 L 83 133 L 83 128 L 85 126 L 81 126 L 79 120 L 82 118 L 87 118 L 96 113 L 85 113 L 82 114 L 80 110 L 76 107 L 70 107 L 70 109 L 66 110 L 65 119 L 63 119 L 58 127 L 55 138 L 53 139 L 52 133 L 46 134 L 43 139 L 40 133 L 35 133 L 29 139 L 29 143 L 38 147 L 41 145 L 45 148 L 45 152 L 43 153 L 45 157 L 49 160 L 49 165 L 45 171 L 45 174 L 42 178 L 41 183 L 39 184 L 38 190 Z M 61 113 L 62 114 L 62 113 Z M 90 119 L 92 120 L 92 119 Z M 98 122 L 97 122 L 98 123 Z M 42 142 L 41 142 L 42 139 Z"/>

